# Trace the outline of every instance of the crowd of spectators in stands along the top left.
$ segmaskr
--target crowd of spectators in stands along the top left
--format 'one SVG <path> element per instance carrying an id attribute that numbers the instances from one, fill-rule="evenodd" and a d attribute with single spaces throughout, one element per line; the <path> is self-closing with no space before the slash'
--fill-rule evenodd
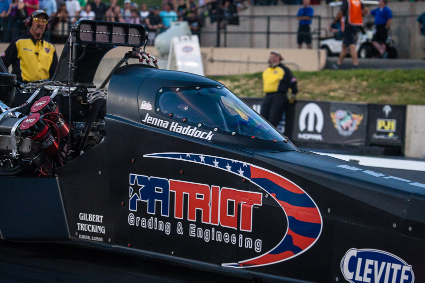
<path id="1" fill-rule="evenodd" d="M 90 0 L 89 0 L 90 1 Z M 26 32 L 23 20 L 35 9 L 50 17 L 50 28 L 44 33 L 53 43 L 64 43 L 68 26 L 79 19 L 95 19 L 143 24 L 153 41 L 156 34 L 169 28 L 172 21 L 187 21 L 192 34 L 199 34 L 205 18 L 211 22 L 238 24 L 237 12 L 246 8 L 247 0 L 162 0 L 161 7 L 138 5 L 124 0 L 103 3 L 102 0 L 0 0 L 0 41 L 9 42 Z"/>

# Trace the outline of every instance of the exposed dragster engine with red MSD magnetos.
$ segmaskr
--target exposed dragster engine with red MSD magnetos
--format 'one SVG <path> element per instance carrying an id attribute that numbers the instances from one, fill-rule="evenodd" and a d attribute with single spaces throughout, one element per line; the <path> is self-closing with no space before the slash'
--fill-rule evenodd
<path id="1" fill-rule="evenodd" d="M 104 139 L 107 92 L 58 84 L 24 88 L 19 106 L 0 104 L 0 175 L 52 176 Z"/>

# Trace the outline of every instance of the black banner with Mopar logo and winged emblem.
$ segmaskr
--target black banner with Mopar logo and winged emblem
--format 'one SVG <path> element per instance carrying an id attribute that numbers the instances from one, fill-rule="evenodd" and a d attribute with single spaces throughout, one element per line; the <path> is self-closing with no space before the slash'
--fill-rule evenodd
<path id="1" fill-rule="evenodd" d="M 298 101 L 294 141 L 360 146 L 366 143 L 366 104 Z"/>

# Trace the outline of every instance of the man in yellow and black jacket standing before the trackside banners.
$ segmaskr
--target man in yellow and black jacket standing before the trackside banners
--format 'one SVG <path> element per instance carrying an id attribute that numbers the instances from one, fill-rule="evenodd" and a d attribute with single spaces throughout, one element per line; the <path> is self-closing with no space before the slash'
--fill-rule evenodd
<path id="1" fill-rule="evenodd" d="M 274 127 L 279 123 L 288 104 L 287 92 L 291 89 L 292 99 L 298 88 L 296 78 L 285 65 L 281 63 L 282 56 L 272 51 L 268 59 L 268 67 L 262 72 L 263 91 L 265 97 L 261 103 L 260 114 Z"/>

